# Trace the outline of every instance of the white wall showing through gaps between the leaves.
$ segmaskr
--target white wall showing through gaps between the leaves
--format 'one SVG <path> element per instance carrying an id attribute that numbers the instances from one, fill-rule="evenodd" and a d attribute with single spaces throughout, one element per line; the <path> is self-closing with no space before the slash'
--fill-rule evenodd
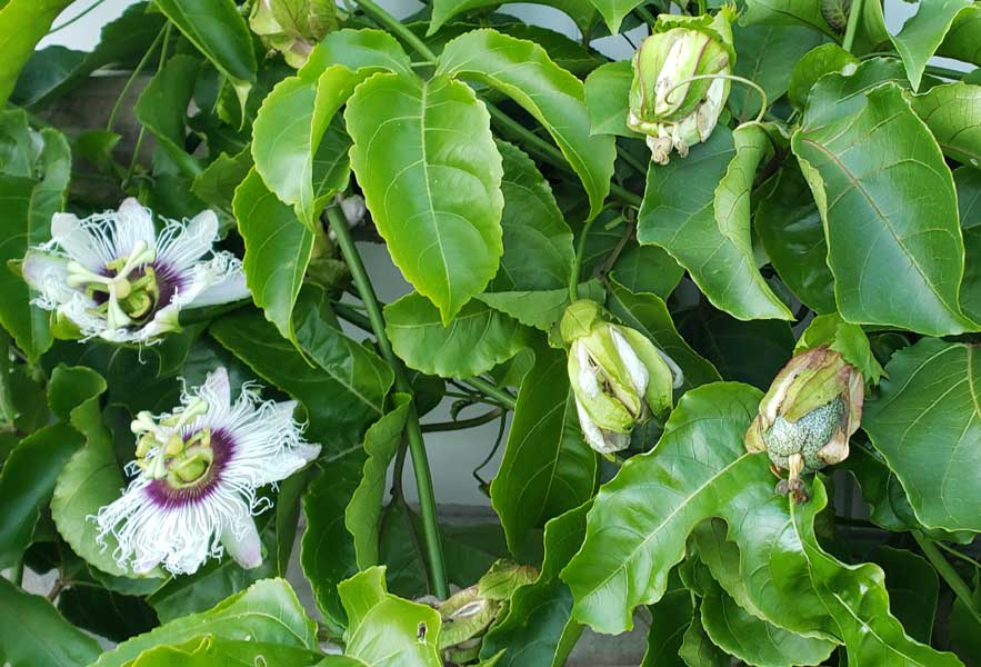
<path id="1" fill-rule="evenodd" d="M 117 18 L 123 9 L 132 3 L 132 0 L 103 0 L 94 10 L 87 13 L 77 22 L 46 37 L 40 47 L 62 44 L 72 49 L 91 50 L 99 41 L 99 32 L 102 24 Z M 380 3 L 398 17 L 406 17 L 418 11 L 422 4 L 417 0 L 380 0 Z M 76 2 L 69 7 L 58 20 L 54 28 L 91 7 L 92 2 Z M 529 23 L 535 23 L 570 34 L 578 39 L 579 31 L 565 14 L 555 9 L 537 4 L 508 4 L 507 13 L 513 14 Z M 917 11 L 917 4 L 902 0 L 885 0 L 885 19 L 890 31 L 898 32 L 902 23 Z M 638 28 L 629 33 L 634 43 L 645 34 L 644 28 Z M 593 46 L 614 59 L 624 59 L 632 54 L 633 48 L 622 37 L 607 37 L 593 42 Z M 941 63 L 938 60 L 938 63 Z M 942 62 L 948 67 L 957 67 L 958 63 Z M 402 279 L 399 271 L 392 266 L 383 246 L 361 243 L 364 262 L 378 290 L 379 298 L 383 301 L 393 301 L 410 291 L 409 285 Z M 350 331 L 358 337 L 360 332 Z M 428 415 L 423 421 L 447 421 L 450 401 Z M 487 407 L 477 406 L 464 410 L 461 418 L 474 417 L 486 410 Z M 477 488 L 476 480 L 470 471 L 490 451 L 498 432 L 498 422 L 492 421 L 479 428 L 427 434 L 427 449 L 430 465 L 433 471 L 436 495 L 442 504 L 478 505 L 487 506 L 489 500 Z M 497 470 L 503 445 L 490 465 L 482 470 L 482 477 L 489 479 Z M 410 500 L 416 496 L 416 484 L 412 478 L 410 465 L 406 466 L 406 494 Z"/>

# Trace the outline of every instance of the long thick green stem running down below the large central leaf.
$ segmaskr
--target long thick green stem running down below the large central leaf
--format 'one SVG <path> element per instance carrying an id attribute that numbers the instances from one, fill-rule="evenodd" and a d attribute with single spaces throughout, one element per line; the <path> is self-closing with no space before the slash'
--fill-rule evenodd
<path id="1" fill-rule="evenodd" d="M 337 237 L 338 246 L 344 256 L 344 261 L 347 261 L 348 268 L 351 271 L 354 287 L 358 288 L 361 301 L 368 310 L 368 319 L 378 340 L 381 356 L 396 374 L 396 390 L 411 395 L 412 386 L 409 384 L 406 371 L 386 336 L 381 306 L 378 302 L 378 297 L 374 295 L 374 288 L 368 278 L 368 272 L 364 270 L 358 248 L 354 246 L 354 239 L 351 238 L 348 222 L 340 215 L 337 207 L 327 209 L 327 219 Z M 429 460 L 426 455 L 422 429 L 419 426 L 419 415 L 416 414 L 416 408 L 412 404 L 409 405 L 409 417 L 406 420 L 406 440 L 412 455 L 412 471 L 416 475 L 416 487 L 419 490 L 419 514 L 422 517 L 422 534 L 426 544 L 426 556 L 429 561 L 430 581 L 432 583 L 433 594 L 440 599 L 447 599 L 450 590 L 447 585 L 447 571 L 443 565 L 443 548 L 436 511 L 432 475 L 429 471 Z"/>

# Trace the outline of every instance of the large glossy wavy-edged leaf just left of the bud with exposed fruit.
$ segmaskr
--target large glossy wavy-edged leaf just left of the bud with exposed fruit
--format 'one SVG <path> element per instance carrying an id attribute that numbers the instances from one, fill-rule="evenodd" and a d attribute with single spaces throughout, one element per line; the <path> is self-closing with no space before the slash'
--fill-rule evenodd
<path id="1" fill-rule="evenodd" d="M 575 618 L 601 633 L 630 629 L 632 609 L 663 595 L 692 528 L 707 517 L 738 514 L 740 494 L 760 491 L 753 480 L 765 480 L 765 457 L 742 447 L 759 398 L 758 390 L 734 384 L 688 391 L 658 446 L 631 457 L 600 487 L 582 549 L 562 570 Z M 730 524 L 742 525 L 742 518 Z"/>

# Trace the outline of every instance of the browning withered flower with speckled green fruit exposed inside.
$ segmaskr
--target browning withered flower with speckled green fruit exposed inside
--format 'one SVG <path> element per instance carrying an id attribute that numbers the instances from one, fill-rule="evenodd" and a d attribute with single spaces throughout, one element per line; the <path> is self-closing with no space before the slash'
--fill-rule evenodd
<path id="1" fill-rule="evenodd" d="M 818 347 L 794 356 L 773 379 L 759 415 L 745 432 L 749 451 L 767 451 L 790 471 L 778 485 L 807 500 L 801 472 L 815 472 L 848 457 L 848 440 L 862 420 L 864 378 L 841 355 Z M 775 470 L 774 470 L 775 471 Z"/>

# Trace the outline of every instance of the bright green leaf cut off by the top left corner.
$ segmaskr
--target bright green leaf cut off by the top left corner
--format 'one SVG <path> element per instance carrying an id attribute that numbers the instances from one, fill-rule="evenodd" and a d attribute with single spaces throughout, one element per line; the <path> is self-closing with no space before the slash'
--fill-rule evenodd
<path id="1" fill-rule="evenodd" d="M 71 0 L 10 0 L 0 7 L 0 107 L 13 91 L 17 77 L 34 47 Z"/>

